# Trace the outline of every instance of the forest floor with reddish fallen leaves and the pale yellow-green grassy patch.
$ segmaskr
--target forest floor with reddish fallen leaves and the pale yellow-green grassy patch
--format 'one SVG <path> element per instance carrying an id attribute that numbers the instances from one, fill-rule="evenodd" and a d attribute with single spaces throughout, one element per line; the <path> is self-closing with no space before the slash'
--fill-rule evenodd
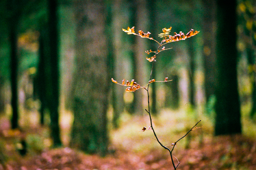
<path id="1" fill-rule="evenodd" d="M 169 145 L 169 142 L 175 142 L 186 134 L 198 117 L 164 113 L 154 118 L 154 127 L 160 141 Z M 69 147 L 38 150 L 23 157 L 9 149 L 9 153 L 0 153 L 4 158 L 0 160 L 0 170 L 174 169 L 169 152 L 157 144 L 152 131 L 141 131 L 149 123 L 147 116 L 126 115 L 120 121 L 122 126 L 110 132 L 111 153 L 105 157 L 87 155 Z M 177 169 L 256 170 L 256 139 L 246 135 L 212 136 L 211 123 L 206 119 L 200 123 L 197 127 L 203 125 L 202 128 L 191 131 L 175 146 L 173 155 L 180 162 Z M 8 145 L 2 141 L 0 146 Z M 175 165 L 178 164 L 177 159 L 174 158 Z"/>

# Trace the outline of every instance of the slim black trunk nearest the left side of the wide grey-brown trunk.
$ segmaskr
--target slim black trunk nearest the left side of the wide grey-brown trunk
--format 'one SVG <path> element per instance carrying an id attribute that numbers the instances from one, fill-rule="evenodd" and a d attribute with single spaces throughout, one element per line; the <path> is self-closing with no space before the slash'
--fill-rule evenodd
<path id="1" fill-rule="evenodd" d="M 57 17 L 57 0 L 49 0 L 49 61 L 50 79 L 49 85 L 49 111 L 51 119 L 51 136 L 54 146 L 60 146 L 60 128 L 59 128 L 59 34 Z"/>

